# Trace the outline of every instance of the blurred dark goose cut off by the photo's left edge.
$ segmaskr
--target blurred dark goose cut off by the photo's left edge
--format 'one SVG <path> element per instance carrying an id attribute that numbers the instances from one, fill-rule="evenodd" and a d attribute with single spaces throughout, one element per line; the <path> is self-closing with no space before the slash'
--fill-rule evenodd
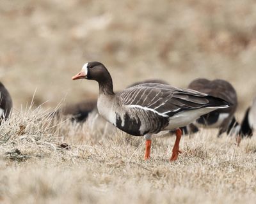
<path id="1" fill-rule="evenodd" d="M 3 120 L 8 119 L 12 111 L 12 98 L 0 82 L 0 125 Z"/>

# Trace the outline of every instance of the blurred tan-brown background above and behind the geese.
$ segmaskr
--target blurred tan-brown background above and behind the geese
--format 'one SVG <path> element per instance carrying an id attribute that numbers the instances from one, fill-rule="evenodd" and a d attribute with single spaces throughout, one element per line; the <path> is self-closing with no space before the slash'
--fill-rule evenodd
<path id="1" fill-rule="evenodd" d="M 94 98 L 96 82 L 72 81 L 103 62 L 122 90 L 158 78 L 177 87 L 204 77 L 237 90 L 239 120 L 256 95 L 254 0 L 1 0 L 0 80 L 14 107 Z"/>

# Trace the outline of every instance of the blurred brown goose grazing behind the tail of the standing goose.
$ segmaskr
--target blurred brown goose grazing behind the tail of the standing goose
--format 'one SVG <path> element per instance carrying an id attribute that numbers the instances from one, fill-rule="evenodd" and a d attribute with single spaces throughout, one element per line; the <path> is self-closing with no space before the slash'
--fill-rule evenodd
<path id="1" fill-rule="evenodd" d="M 193 89 L 216 98 L 221 98 L 232 105 L 228 108 L 221 108 L 202 115 L 196 119 L 193 124 L 189 124 L 189 126 L 182 128 L 185 133 L 195 133 L 198 131 L 198 128 L 204 127 L 219 128 L 218 136 L 224 132 L 227 132 L 228 135 L 231 133 L 236 135 L 239 134 L 240 127 L 234 117 L 237 108 L 237 94 L 236 90 L 229 82 L 221 79 L 211 81 L 205 78 L 198 78 L 189 84 L 188 89 Z"/>

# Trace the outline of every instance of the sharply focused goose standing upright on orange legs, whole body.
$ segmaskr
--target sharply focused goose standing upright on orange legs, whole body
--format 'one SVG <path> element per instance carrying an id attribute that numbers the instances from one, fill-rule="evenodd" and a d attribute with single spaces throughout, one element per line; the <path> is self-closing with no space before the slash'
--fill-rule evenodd
<path id="1" fill-rule="evenodd" d="M 196 120 L 200 115 L 218 108 L 227 108 L 223 99 L 171 85 L 148 83 L 125 89 L 115 94 L 112 78 L 100 62 L 84 64 L 72 80 L 86 78 L 99 83 L 97 107 L 100 115 L 134 136 L 145 136 L 145 159 L 150 157 L 151 135 L 162 130 L 176 129 L 176 140 L 171 161 L 179 155 L 180 127 Z"/>

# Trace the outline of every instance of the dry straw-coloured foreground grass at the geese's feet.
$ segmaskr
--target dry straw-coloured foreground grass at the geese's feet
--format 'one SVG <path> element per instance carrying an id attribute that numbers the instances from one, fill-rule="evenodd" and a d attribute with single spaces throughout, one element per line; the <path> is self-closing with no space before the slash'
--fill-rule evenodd
<path id="1" fill-rule="evenodd" d="M 102 137 L 83 126 L 50 122 L 42 109 L 15 112 L 0 127 L 3 203 L 254 203 L 255 143 L 216 138 L 216 131 L 157 136 L 143 160 L 144 139 L 120 131 Z M 19 135 L 20 124 L 26 126 Z M 61 149 L 68 143 L 69 149 Z M 18 149 L 20 152 L 17 152 Z"/>

